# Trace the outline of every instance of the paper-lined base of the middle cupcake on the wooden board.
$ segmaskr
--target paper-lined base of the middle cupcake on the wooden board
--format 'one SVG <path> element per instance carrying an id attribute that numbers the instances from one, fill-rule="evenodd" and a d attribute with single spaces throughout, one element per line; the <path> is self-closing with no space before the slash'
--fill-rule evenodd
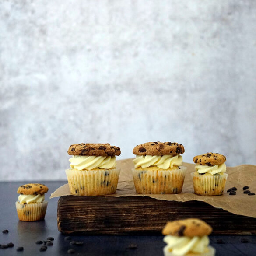
<path id="1" fill-rule="evenodd" d="M 133 182 L 139 194 L 178 194 L 185 179 L 185 166 L 175 170 L 138 170 L 133 168 Z"/>

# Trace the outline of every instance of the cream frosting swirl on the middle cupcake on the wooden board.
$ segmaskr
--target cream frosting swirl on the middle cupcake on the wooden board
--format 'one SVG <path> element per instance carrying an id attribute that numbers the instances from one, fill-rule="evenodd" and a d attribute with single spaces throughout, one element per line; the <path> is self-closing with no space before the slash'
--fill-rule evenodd
<path id="1" fill-rule="evenodd" d="M 133 159 L 133 164 L 135 168 L 147 168 L 149 166 L 157 166 L 161 169 L 173 168 L 173 166 L 182 165 L 182 156 L 181 155 L 137 155 Z"/>

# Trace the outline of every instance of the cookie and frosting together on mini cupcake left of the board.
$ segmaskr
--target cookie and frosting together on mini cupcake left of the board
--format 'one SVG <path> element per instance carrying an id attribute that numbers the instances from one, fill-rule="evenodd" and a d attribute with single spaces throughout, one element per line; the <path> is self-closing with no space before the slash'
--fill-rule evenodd
<path id="1" fill-rule="evenodd" d="M 41 183 L 29 183 L 18 187 L 17 193 L 19 203 L 42 203 L 45 200 L 45 193 L 48 187 Z"/>

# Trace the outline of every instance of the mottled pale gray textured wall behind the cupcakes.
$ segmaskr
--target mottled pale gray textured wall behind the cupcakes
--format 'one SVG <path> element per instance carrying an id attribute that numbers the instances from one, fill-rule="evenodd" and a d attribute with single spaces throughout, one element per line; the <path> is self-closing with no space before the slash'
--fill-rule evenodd
<path id="1" fill-rule="evenodd" d="M 256 164 L 255 14 L 255 0 L 1 0 L 0 179 L 66 179 L 80 142 Z"/>

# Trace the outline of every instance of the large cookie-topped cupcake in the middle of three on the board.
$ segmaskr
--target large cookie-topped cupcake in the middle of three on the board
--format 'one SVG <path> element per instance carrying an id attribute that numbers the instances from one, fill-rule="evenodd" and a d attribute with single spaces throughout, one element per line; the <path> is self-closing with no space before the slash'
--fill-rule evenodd
<path id="1" fill-rule="evenodd" d="M 186 167 L 182 165 L 182 144 L 147 142 L 133 148 L 133 181 L 139 194 L 181 193 Z"/>

